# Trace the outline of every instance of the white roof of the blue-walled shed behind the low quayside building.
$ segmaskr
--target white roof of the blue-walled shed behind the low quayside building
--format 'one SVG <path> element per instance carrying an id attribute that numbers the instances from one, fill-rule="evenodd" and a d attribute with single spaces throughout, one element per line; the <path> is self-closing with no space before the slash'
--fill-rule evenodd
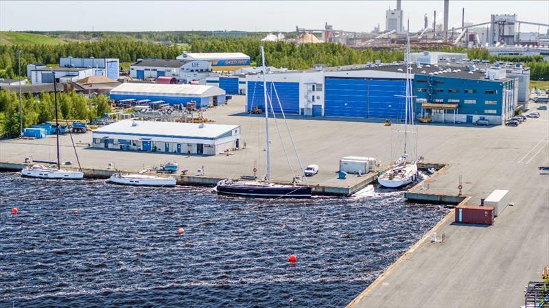
<path id="1" fill-rule="evenodd" d="M 113 88 L 113 91 L 110 91 L 110 95 L 113 94 L 209 97 L 224 95 L 225 91 L 217 86 L 195 84 L 141 84 L 125 82 L 124 84 L 120 84 L 116 88 Z"/>

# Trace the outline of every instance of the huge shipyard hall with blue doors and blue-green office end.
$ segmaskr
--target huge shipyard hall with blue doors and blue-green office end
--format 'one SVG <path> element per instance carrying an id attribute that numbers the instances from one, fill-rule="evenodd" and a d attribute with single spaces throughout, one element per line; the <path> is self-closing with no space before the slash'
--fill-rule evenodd
<path id="1" fill-rule="evenodd" d="M 508 73 L 509 71 L 509 73 Z M 500 125 L 527 97 L 529 69 L 478 68 L 469 62 L 412 67 L 415 115 L 439 123 Z M 267 75 L 272 110 L 312 117 L 403 119 L 406 66 L 365 64 Z M 524 88 L 526 87 L 526 91 Z M 262 75 L 246 76 L 247 110 L 264 110 Z"/>

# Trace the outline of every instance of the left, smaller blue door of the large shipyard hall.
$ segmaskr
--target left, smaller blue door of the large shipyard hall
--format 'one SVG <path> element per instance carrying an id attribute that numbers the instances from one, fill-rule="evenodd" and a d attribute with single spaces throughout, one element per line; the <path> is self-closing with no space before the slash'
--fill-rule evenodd
<path id="1" fill-rule="evenodd" d="M 248 111 L 258 106 L 261 110 L 265 109 L 263 82 L 248 81 L 247 108 Z M 268 102 L 272 102 L 274 113 L 281 113 L 277 94 L 284 113 L 299 114 L 299 82 L 268 82 L 267 96 Z M 269 110 L 271 108 L 269 107 Z"/>

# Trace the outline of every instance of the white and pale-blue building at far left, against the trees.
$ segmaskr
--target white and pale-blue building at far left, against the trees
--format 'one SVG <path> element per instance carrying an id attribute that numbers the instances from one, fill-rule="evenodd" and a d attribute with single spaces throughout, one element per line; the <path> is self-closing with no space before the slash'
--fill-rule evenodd
<path id="1" fill-rule="evenodd" d="M 60 58 L 60 67 L 91 68 L 94 70 L 94 76 L 105 76 L 113 80 L 118 80 L 120 61 L 115 58 Z"/>

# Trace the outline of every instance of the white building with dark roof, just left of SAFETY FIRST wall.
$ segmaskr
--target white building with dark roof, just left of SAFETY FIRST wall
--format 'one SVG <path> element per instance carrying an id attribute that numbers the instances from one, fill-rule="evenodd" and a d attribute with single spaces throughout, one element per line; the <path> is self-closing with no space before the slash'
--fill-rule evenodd
<path id="1" fill-rule="evenodd" d="M 206 60 L 137 59 L 130 65 L 130 77 L 140 80 L 175 77 L 183 83 L 202 80 L 211 74 L 211 62 Z"/>

